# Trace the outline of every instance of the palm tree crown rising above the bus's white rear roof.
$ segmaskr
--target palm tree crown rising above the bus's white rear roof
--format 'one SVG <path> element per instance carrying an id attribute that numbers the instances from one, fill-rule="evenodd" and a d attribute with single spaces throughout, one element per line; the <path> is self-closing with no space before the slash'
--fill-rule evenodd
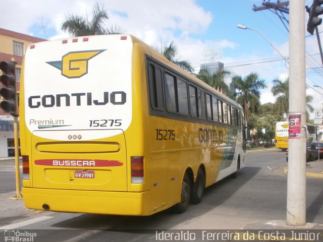
<path id="1" fill-rule="evenodd" d="M 69 32 L 72 36 L 119 34 L 123 30 L 118 26 L 106 27 L 104 21 L 109 19 L 104 5 L 95 3 L 92 9 L 92 19 L 88 21 L 82 16 L 68 14 L 62 23 L 61 29 Z"/>

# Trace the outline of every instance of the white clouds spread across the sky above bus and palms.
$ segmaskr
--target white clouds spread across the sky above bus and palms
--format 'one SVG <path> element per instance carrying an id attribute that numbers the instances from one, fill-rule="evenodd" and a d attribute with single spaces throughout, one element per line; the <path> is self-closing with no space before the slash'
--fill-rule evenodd
<path id="1" fill-rule="evenodd" d="M 117 24 L 126 33 L 135 35 L 151 46 L 174 41 L 179 50 L 179 57 L 189 61 L 196 70 L 202 62 L 203 48 L 221 46 L 221 62 L 225 64 L 225 68 L 230 66 L 230 71 L 241 76 L 256 72 L 265 80 L 268 88 L 262 90 L 262 103 L 275 101 L 270 92 L 272 80 L 288 77 L 288 64 L 273 59 L 280 57 L 274 48 L 271 52 L 251 53 L 240 46 L 239 39 L 230 38 L 229 33 L 221 38 L 208 35 L 207 32 L 211 32 L 211 24 L 221 20 L 214 19 L 213 13 L 199 6 L 196 0 L 164 0 L 163 4 L 151 0 L 11 0 L 6 3 L 7 9 L 14 11 L 2 12 L 0 27 L 41 38 L 45 38 L 44 32 L 48 39 L 66 38 L 69 34 L 61 31 L 65 15 L 71 13 L 90 19 L 95 2 L 104 3 L 109 11 L 107 26 Z M 261 1 L 256 2 L 260 5 Z M 310 5 L 311 1 L 306 0 L 306 3 Z M 322 28 L 323 25 L 319 26 L 319 29 Z M 273 42 L 273 45 L 283 56 L 288 56 L 288 42 Z M 315 36 L 306 37 L 306 51 L 307 84 L 320 85 L 321 73 L 318 75 L 317 72 L 321 70 L 316 67 L 321 67 L 321 60 Z M 253 64 L 250 65 L 251 63 Z M 319 91 L 323 93 L 323 90 Z M 313 103 L 321 106 L 320 94 L 310 89 L 307 92 L 313 95 Z"/>

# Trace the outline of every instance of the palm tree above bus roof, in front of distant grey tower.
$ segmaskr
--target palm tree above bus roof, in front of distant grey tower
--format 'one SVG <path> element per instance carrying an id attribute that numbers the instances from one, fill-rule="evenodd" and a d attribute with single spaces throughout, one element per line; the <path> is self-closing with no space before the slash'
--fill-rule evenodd
<path id="1" fill-rule="evenodd" d="M 230 95 L 230 89 L 228 85 L 224 82 L 226 76 L 231 75 L 230 71 L 220 69 L 216 73 L 211 73 L 208 69 L 201 69 L 197 74 L 197 78 L 210 85 L 218 91 L 222 91 L 225 95 Z"/>

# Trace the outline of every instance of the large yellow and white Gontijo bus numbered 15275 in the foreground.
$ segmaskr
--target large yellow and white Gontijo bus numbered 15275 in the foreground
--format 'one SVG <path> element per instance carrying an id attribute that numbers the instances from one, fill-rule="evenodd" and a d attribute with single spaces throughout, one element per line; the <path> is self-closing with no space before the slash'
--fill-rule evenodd
<path id="1" fill-rule="evenodd" d="M 131 35 L 32 44 L 22 76 L 27 208 L 181 213 L 245 166 L 241 106 Z"/>

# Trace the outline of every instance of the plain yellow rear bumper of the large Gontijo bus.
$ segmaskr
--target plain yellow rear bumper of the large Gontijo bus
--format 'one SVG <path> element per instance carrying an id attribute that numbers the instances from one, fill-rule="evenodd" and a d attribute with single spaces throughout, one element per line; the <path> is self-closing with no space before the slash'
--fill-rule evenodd
<path id="1" fill-rule="evenodd" d="M 22 188 L 26 208 L 55 212 L 149 215 L 148 191 L 104 192 Z"/>

